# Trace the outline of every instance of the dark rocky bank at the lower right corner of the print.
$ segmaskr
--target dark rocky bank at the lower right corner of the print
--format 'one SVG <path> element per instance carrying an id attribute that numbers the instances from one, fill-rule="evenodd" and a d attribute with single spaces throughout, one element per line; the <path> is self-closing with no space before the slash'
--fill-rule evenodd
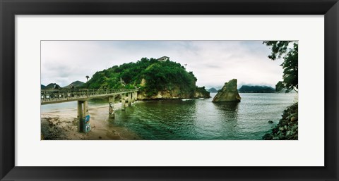
<path id="1" fill-rule="evenodd" d="M 265 140 L 297 140 L 298 139 L 298 104 L 293 104 L 288 107 L 284 113 L 283 118 L 279 120 L 269 133 L 263 136 Z"/>

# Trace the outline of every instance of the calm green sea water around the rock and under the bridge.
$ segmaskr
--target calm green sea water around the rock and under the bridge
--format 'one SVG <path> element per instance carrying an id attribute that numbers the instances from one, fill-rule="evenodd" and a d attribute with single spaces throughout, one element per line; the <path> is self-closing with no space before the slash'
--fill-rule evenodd
<path id="1" fill-rule="evenodd" d="M 211 94 L 215 96 L 215 94 Z M 126 111 L 116 111 L 113 125 L 126 127 L 142 139 L 202 140 L 261 139 L 293 104 L 297 94 L 240 94 L 240 103 L 212 103 L 210 99 L 138 101 Z M 107 105 L 105 100 L 90 106 Z M 42 111 L 62 111 L 76 102 L 42 106 Z M 273 120 L 268 123 L 268 120 Z"/>

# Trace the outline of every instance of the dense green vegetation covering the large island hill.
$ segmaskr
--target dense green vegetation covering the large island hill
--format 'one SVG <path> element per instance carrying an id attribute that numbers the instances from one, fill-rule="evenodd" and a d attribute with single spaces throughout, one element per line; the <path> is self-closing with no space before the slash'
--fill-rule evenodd
<path id="1" fill-rule="evenodd" d="M 180 92 L 196 90 L 196 77 L 180 63 L 141 58 L 136 63 L 114 65 L 98 71 L 83 86 L 88 89 L 134 89 L 136 87 L 153 96 L 160 90 L 179 89 Z"/>

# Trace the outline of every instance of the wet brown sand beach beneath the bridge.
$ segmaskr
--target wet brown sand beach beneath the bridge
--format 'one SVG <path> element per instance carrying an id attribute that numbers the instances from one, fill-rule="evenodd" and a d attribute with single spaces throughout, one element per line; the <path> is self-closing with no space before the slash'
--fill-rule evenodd
<path id="1" fill-rule="evenodd" d="M 41 113 L 41 132 L 45 140 L 135 140 L 141 139 L 126 127 L 119 127 L 108 118 L 109 106 L 89 107 L 90 127 L 88 133 L 78 131 L 76 108 Z M 114 104 L 120 111 L 121 104 Z"/>

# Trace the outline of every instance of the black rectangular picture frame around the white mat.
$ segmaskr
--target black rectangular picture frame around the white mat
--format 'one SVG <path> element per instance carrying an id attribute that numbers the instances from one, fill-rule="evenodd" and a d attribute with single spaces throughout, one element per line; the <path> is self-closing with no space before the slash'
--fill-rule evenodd
<path id="1" fill-rule="evenodd" d="M 0 0 L 1 180 L 338 180 L 338 0 Z M 324 167 L 15 166 L 15 15 L 261 14 L 325 16 Z"/>

